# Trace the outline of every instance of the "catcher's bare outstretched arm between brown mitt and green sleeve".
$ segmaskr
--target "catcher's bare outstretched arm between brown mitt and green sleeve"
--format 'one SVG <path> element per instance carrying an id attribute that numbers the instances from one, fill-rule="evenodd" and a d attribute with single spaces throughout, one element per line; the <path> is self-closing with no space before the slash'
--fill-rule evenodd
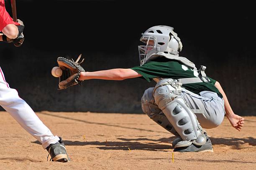
<path id="1" fill-rule="evenodd" d="M 81 72 L 78 80 L 103 79 L 103 80 L 125 80 L 128 78 L 141 77 L 141 75 L 130 68 L 115 68 L 95 72 Z"/>

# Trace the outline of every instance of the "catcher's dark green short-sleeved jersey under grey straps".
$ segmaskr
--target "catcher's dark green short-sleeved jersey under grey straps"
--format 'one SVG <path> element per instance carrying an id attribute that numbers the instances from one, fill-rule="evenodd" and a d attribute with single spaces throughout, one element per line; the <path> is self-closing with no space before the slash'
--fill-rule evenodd
<path id="1" fill-rule="evenodd" d="M 194 72 L 190 67 L 187 67 L 182 62 L 170 60 L 165 57 L 159 57 L 154 61 L 146 62 L 142 66 L 132 67 L 131 69 L 142 75 L 141 78 L 146 79 L 148 82 L 156 77 L 172 78 L 177 80 L 180 78 L 197 77 L 198 75 L 198 72 Z M 210 82 L 208 83 L 190 83 L 184 84 L 182 87 L 195 94 L 199 94 L 202 91 L 211 91 L 216 92 L 222 97 L 221 93 L 214 85 L 216 80 L 213 80 L 210 77 L 208 78 L 210 79 Z"/>

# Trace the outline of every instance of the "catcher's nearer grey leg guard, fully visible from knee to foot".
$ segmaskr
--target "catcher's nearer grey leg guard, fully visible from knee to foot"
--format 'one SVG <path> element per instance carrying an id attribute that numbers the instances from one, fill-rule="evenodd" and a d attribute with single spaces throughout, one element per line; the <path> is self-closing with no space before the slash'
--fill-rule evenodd
<path id="1" fill-rule="evenodd" d="M 206 137 L 195 114 L 180 96 L 180 86 L 172 79 L 159 81 L 154 89 L 155 102 L 183 140 L 175 147 L 185 147 L 192 143 L 204 145 Z"/>

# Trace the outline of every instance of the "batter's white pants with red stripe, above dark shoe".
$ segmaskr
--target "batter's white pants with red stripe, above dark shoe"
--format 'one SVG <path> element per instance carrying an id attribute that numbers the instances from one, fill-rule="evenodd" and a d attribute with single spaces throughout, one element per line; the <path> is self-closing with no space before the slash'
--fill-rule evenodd
<path id="1" fill-rule="evenodd" d="M 45 149 L 59 140 L 37 117 L 31 107 L 19 97 L 17 90 L 9 87 L 0 68 L 0 105 L 33 137 L 41 142 Z"/>

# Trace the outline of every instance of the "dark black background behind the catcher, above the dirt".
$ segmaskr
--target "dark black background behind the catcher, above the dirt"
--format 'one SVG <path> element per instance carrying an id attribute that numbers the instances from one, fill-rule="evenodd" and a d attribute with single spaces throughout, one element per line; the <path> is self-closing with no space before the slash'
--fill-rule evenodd
<path id="1" fill-rule="evenodd" d="M 51 68 L 57 57 L 76 59 L 80 53 L 87 71 L 139 65 L 141 33 L 168 25 L 182 40 L 180 56 L 207 67 L 233 111 L 256 115 L 253 2 L 16 0 L 16 5 L 25 41 L 21 47 L 1 42 L 0 66 L 10 87 L 35 111 L 142 113 L 141 96 L 154 82 L 87 80 L 57 90 Z"/>

